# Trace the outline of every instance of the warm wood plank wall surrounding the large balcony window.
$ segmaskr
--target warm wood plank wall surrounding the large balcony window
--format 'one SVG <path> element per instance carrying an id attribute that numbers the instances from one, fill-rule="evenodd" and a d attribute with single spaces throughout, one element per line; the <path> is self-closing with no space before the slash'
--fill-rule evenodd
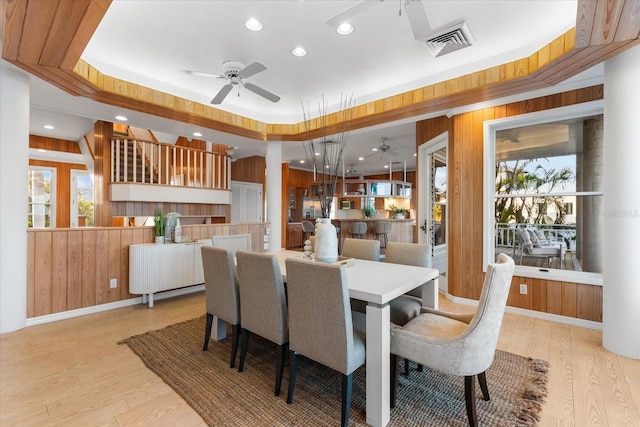
<path id="1" fill-rule="evenodd" d="M 451 295 L 477 300 L 482 290 L 484 122 L 602 98 L 603 87 L 598 85 L 416 124 L 417 145 L 449 130 L 448 283 Z M 528 296 L 519 295 L 520 283 L 531 283 L 533 291 Z M 597 286 L 516 277 L 508 304 L 602 320 L 602 290 Z"/>

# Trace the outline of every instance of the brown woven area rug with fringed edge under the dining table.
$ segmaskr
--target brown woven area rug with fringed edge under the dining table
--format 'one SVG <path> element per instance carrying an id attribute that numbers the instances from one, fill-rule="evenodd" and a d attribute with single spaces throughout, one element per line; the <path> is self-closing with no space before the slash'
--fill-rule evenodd
<path id="1" fill-rule="evenodd" d="M 130 337 L 127 344 L 211 426 L 328 426 L 340 422 L 340 375 L 300 358 L 294 401 L 287 405 L 288 366 L 274 396 L 276 348 L 252 335 L 244 372 L 229 368 L 230 339 L 202 351 L 204 316 Z M 238 352 L 239 353 L 239 352 Z M 239 359 L 239 357 L 238 357 Z M 464 378 L 423 372 L 400 376 L 389 426 L 467 426 Z M 487 371 L 491 400 L 476 381 L 481 426 L 534 426 L 547 393 L 547 362 L 497 351 Z M 350 426 L 366 426 L 365 368 L 354 375 Z"/>

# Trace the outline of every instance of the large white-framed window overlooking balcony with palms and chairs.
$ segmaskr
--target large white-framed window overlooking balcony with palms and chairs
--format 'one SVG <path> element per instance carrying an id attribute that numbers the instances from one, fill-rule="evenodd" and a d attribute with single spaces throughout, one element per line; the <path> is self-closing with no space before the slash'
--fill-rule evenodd
<path id="1" fill-rule="evenodd" d="M 603 116 L 588 104 L 485 123 L 485 266 L 506 253 L 521 276 L 601 284 Z"/>

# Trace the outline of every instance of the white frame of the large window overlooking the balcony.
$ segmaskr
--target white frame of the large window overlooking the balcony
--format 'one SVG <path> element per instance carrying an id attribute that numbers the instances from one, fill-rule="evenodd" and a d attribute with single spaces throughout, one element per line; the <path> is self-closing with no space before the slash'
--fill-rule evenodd
<path id="1" fill-rule="evenodd" d="M 495 259 L 494 248 L 494 218 L 495 218 L 495 144 L 496 132 L 516 127 L 553 123 L 569 119 L 578 119 L 604 114 L 604 101 L 590 101 L 567 107 L 551 108 L 534 113 L 520 114 L 496 120 L 487 120 L 483 124 L 483 249 L 482 269 L 487 271 L 489 262 Z M 554 193 L 556 194 L 556 193 Z M 557 194 L 556 194 L 557 195 Z M 571 195 L 601 195 L 593 192 L 576 192 Z M 603 242 L 604 244 L 604 242 Z M 569 271 L 548 269 L 540 271 L 538 268 L 516 265 L 516 276 L 534 279 L 557 280 L 562 282 L 582 283 L 602 286 L 602 274 L 584 271 Z"/>

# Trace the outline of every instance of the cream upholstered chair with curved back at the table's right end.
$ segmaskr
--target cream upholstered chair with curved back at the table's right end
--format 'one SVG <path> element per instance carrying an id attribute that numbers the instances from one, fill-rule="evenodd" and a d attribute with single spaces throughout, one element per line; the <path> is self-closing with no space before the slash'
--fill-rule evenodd
<path id="1" fill-rule="evenodd" d="M 464 376 L 467 417 L 477 426 L 474 377 L 489 400 L 485 371 L 493 363 L 504 309 L 515 268 L 505 254 L 490 264 L 474 314 L 454 314 L 428 308 L 403 327 L 391 329 L 391 406 L 397 391 L 398 356 L 429 368 Z"/>

